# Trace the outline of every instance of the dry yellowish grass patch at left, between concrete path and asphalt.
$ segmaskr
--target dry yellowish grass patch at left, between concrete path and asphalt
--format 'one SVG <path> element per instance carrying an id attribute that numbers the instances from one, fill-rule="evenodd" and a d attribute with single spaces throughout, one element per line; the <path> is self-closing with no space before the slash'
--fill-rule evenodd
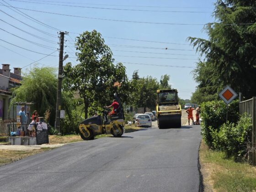
<path id="1" fill-rule="evenodd" d="M 12 163 L 17 160 L 26 158 L 30 155 L 35 155 L 37 153 L 41 153 L 43 151 L 48 151 L 51 149 L 54 149 L 54 148 L 43 147 L 41 149 L 34 149 L 34 150 L 28 150 L 28 151 L 0 149 L 0 166 Z"/>

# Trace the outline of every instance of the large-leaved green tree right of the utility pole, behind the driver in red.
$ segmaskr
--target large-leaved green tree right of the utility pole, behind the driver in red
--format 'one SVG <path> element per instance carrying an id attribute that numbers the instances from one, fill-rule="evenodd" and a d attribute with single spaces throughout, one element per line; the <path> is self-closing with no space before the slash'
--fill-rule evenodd
<path id="1" fill-rule="evenodd" d="M 87 118 L 90 104 L 109 102 L 113 91 L 118 90 L 118 86 L 113 88 L 114 83 L 118 82 L 122 87 L 127 78 L 125 67 L 121 63 L 113 64 L 112 52 L 96 30 L 80 34 L 75 46 L 80 63 L 75 66 L 66 64 L 64 78 L 70 91 L 79 91 Z"/>

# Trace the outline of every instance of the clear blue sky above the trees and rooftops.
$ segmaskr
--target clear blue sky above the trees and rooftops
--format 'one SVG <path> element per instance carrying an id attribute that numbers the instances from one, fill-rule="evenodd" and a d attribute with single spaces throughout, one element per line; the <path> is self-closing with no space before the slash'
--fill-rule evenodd
<path id="1" fill-rule="evenodd" d="M 22 2 L 20 0 L 0 0 L 0 5 L 7 5 L 6 3 L 17 8 L 23 8 L 23 10 L 18 10 L 26 13 L 28 16 L 31 16 L 34 19 L 37 19 L 38 21 L 48 24 L 51 27 L 69 32 L 69 35 L 65 36 L 65 39 L 67 40 L 66 45 L 68 46 L 65 48 L 65 51 L 67 54 L 69 54 L 69 57 L 75 57 L 75 48 L 73 46 L 75 37 L 84 31 L 96 29 L 102 34 L 106 44 L 108 44 L 112 49 L 114 59 L 116 61 L 124 62 L 129 78 L 131 78 L 134 70 L 139 70 L 139 76 L 141 77 L 151 75 L 158 80 L 160 80 L 161 75 L 168 74 L 171 76 L 169 83 L 173 88 L 176 88 L 179 91 L 179 96 L 183 99 L 189 99 L 191 93 L 196 88 L 196 83 L 194 82 L 191 73 L 193 68 L 185 68 L 184 66 L 195 67 L 195 62 L 197 62 L 198 59 L 198 54 L 195 52 L 195 50 L 193 50 L 192 46 L 189 46 L 186 39 L 187 37 L 208 38 L 207 34 L 205 34 L 205 32 L 202 30 L 203 24 L 214 21 L 214 18 L 212 17 L 214 0 L 22 0 Z M 75 5 L 84 7 L 59 5 Z M 44 27 L 43 25 L 19 15 L 15 12 L 17 10 L 14 8 L 12 8 L 12 10 L 9 8 L 6 6 L 0 6 L 0 19 L 2 20 L 0 20 L 0 39 L 5 41 L 0 40 L 0 63 L 11 64 L 11 68 L 21 67 L 22 71 L 26 71 L 26 69 L 33 66 L 33 64 L 31 64 L 32 62 L 42 59 L 47 54 L 53 53 L 57 50 L 59 47 L 57 34 L 58 30 Z M 73 16 L 61 16 L 37 11 L 46 11 Z M 107 20 L 143 21 L 150 23 L 107 21 L 78 18 L 74 16 L 84 16 Z M 17 21 L 16 19 L 20 21 Z M 12 27 L 7 23 L 19 29 Z M 26 24 L 31 27 L 27 26 Z M 38 30 L 43 32 L 39 32 Z M 27 32 L 31 33 L 32 35 L 37 35 L 38 37 L 29 35 Z M 45 32 L 48 32 L 48 34 Z M 33 43 L 40 43 L 41 46 L 24 41 L 19 37 L 25 38 Z M 162 43 L 132 41 L 109 37 L 155 41 Z M 33 53 L 31 51 L 18 48 L 9 43 L 38 53 Z M 165 48 L 167 48 L 167 50 Z M 52 55 L 57 56 L 58 51 Z M 69 58 L 66 61 L 71 62 L 72 64 L 77 63 L 76 59 L 73 58 Z M 58 62 L 58 57 L 48 56 L 37 63 L 39 66 L 47 65 L 58 67 Z"/>

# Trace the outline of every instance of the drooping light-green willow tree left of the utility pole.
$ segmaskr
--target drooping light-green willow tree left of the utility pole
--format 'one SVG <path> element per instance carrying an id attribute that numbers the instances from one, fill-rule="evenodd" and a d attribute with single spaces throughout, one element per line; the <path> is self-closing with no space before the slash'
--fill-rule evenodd
<path id="1" fill-rule="evenodd" d="M 34 102 L 31 110 L 37 110 L 43 116 L 50 109 L 50 124 L 54 124 L 57 93 L 56 68 L 33 67 L 24 73 L 21 86 L 13 89 L 12 102 Z"/>

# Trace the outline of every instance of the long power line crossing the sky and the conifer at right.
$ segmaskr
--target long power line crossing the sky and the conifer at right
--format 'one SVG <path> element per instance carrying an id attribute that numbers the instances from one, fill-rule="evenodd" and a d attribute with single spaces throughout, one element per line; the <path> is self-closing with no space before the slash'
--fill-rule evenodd
<path id="1" fill-rule="evenodd" d="M 0 6 L 9 7 L 7 5 L 0 5 Z M 53 14 L 53 15 L 70 16 L 70 17 L 78 17 L 78 18 L 85 18 L 85 19 L 95 19 L 95 20 L 102 20 L 102 21 L 117 21 L 117 22 L 130 22 L 130 23 L 158 24 L 158 25 L 182 25 L 182 26 L 204 26 L 205 25 L 205 24 L 197 24 L 197 23 L 161 23 L 161 22 L 105 19 L 105 18 L 96 18 L 96 17 L 87 17 L 87 16 L 75 16 L 75 15 L 62 14 L 62 13 L 54 13 L 54 12 L 48 12 L 48 11 L 39 11 L 39 10 L 20 8 L 20 7 L 14 7 L 14 8 L 21 9 L 21 10 L 27 10 L 27 11 L 35 11 L 35 12 L 41 12 L 41 13 L 48 13 L 48 14 Z M 219 25 L 229 26 L 229 25 L 253 25 L 254 23 L 230 23 L 230 24 L 212 23 L 212 24 L 219 24 Z"/>

